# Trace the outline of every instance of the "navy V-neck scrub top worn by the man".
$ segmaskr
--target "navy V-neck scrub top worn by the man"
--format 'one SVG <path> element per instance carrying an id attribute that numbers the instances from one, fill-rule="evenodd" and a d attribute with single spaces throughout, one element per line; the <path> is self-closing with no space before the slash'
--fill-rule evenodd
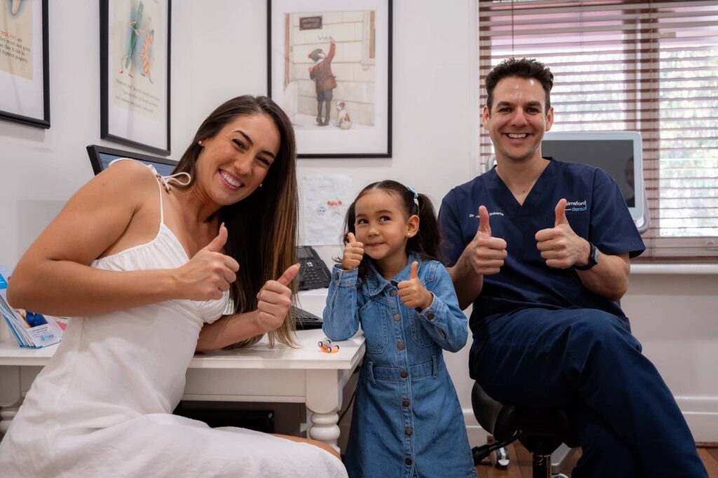
<path id="1" fill-rule="evenodd" d="M 523 205 L 495 169 L 454 187 L 442 201 L 439 222 L 447 266 L 456 263 L 476 235 L 480 205 L 488 209 L 491 235 L 506 241 L 508 257 L 500 273 L 484 276 L 472 322 L 525 307 L 600 309 L 625 318 L 617 302 L 586 289 L 573 268 L 546 266 L 534 237 L 554 227 L 556 204 L 565 198 L 566 217 L 577 235 L 603 254 L 638 256 L 645 246 L 620 189 L 602 169 L 546 159 L 551 162 Z"/>

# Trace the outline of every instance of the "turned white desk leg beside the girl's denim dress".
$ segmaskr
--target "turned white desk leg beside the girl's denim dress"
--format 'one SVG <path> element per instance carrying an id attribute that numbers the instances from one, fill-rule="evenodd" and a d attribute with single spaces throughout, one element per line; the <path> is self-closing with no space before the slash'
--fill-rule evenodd
<path id="1" fill-rule="evenodd" d="M 312 412 L 309 438 L 339 451 L 339 415 L 342 386 L 337 370 L 307 370 L 307 408 Z"/>

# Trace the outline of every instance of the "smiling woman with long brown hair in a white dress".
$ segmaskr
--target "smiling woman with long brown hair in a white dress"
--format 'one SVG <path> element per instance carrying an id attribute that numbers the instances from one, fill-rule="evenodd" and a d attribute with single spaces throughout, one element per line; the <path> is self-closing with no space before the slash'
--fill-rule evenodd
<path id="1" fill-rule="evenodd" d="M 13 306 L 73 319 L 0 442 L 4 476 L 346 476 L 326 444 L 171 414 L 195 350 L 292 344 L 295 167 L 284 112 L 241 96 L 174 174 L 119 161 L 70 198 L 9 281 Z"/>

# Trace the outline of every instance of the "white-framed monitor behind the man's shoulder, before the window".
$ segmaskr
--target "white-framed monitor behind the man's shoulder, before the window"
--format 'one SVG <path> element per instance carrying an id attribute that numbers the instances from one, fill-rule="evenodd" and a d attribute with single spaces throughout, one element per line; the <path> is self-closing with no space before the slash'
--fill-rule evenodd
<path id="1" fill-rule="evenodd" d="M 638 230 L 648 230 L 648 202 L 643 189 L 643 146 L 636 131 L 547 131 L 541 155 L 559 161 L 600 167 L 616 180 Z M 495 158 L 490 159 L 493 167 Z"/>

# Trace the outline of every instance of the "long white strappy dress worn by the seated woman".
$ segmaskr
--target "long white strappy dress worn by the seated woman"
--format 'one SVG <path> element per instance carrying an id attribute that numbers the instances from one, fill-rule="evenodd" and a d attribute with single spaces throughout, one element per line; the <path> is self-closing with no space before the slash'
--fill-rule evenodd
<path id="1" fill-rule="evenodd" d="M 154 240 L 92 266 L 186 263 L 164 224 L 162 192 L 160 211 Z M 341 462 L 316 446 L 171 414 L 200 329 L 227 301 L 225 293 L 71 319 L 0 442 L 0 477 L 346 477 Z"/>

